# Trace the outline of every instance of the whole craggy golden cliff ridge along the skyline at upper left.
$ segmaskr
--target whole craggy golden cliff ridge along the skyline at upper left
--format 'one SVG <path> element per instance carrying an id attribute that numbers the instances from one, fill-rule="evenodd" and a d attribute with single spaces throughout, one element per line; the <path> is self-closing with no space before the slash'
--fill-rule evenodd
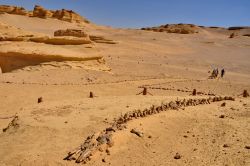
<path id="1" fill-rule="evenodd" d="M 26 15 L 31 17 L 39 17 L 39 18 L 55 18 L 62 21 L 67 22 L 76 22 L 76 23 L 89 23 L 89 21 L 76 12 L 72 10 L 47 10 L 42 6 L 36 5 L 34 10 L 29 12 L 26 11 L 23 7 L 17 6 L 8 6 L 8 5 L 0 5 L 0 13 L 9 13 L 9 14 L 17 14 L 17 15 Z"/>

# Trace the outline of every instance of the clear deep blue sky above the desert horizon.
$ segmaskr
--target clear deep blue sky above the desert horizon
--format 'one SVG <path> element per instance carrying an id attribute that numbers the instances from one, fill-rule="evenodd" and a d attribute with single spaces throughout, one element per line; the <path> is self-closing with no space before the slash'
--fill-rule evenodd
<path id="1" fill-rule="evenodd" d="M 72 9 L 97 24 L 139 28 L 167 23 L 249 26 L 250 0 L 0 0 L 0 4 L 35 4 Z"/>

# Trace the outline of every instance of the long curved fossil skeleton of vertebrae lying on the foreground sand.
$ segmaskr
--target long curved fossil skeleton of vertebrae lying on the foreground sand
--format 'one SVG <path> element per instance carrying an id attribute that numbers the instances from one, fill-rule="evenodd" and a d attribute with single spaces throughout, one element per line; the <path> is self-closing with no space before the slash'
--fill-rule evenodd
<path id="1" fill-rule="evenodd" d="M 171 101 L 169 103 L 162 103 L 160 106 L 152 105 L 150 108 L 144 110 L 135 110 L 132 112 L 125 113 L 117 120 L 114 121 L 111 127 L 106 128 L 100 133 L 93 134 L 84 141 L 82 145 L 73 151 L 69 152 L 64 160 L 75 160 L 76 163 L 86 163 L 91 159 L 94 153 L 100 151 L 109 152 L 108 148 L 113 146 L 113 134 L 118 130 L 126 128 L 126 123 L 133 119 L 143 118 L 149 115 L 157 114 L 167 110 L 178 110 L 180 108 L 188 106 L 196 106 L 203 104 L 210 104 L 211 102 L 218 102 L 223 100 L 234 101 L 233 97 L 209 97 L 202 99 L 183 99 Z"/>

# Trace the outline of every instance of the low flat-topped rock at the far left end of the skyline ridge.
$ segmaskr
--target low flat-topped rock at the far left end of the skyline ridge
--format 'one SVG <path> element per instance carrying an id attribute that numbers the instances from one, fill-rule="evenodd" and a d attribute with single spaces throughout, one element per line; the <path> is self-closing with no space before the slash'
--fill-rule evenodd
<path id="1" fill-rule="evenodd" d="M 9 6 L 9 5 L 0 5 L 0 13 L 9 13 L 16 15 L 25 15 L 29 14 L 23 7 L 18 6 Z"/>

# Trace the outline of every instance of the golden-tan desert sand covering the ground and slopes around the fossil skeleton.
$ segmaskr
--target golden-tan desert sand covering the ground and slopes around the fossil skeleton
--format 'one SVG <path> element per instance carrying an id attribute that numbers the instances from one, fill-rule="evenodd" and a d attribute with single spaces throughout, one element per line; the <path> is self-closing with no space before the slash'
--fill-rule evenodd
<path id="1" fill-rule="evenodd" d="M 242 95 L 250 92 L 249 27 L 118 29 L 78 15 L 59 19 L 41 9 L 41 18 L 6 8 L 0 8 L 0 165 L 79 165 L 64 159 L 103 133 L 110 140 L 95 139 L 101 145 L 80 164 L 250 165 L 250 100 Z M 67 29 L 87 35 L 54 36 Z M 225 76 L 209 79 L 214 68 Z M 149 93 L 138 95 L 144 87 Z M 152 108 L 183 99 L 206 102 Z M 145 109 L 154 113 L 106 131 Z"/>

